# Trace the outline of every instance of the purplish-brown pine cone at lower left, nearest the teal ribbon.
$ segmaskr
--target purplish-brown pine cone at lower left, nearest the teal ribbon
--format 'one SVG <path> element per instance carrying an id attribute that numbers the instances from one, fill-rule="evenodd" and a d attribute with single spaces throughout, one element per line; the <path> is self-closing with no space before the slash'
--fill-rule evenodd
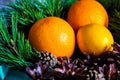
<path id="1" fill-rule="evenodd" d="M 36 63 L 33 67 L 26 67 L 26 72 L 34 80 L 54 80 L 50 76 L 49 66 L 42 65 L 40 62 Z"/>

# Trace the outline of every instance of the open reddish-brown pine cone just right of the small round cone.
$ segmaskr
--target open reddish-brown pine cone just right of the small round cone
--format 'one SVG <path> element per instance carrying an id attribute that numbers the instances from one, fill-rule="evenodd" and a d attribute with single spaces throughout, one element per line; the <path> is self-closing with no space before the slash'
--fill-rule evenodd
<path id="1" fill-rule="evenodd" d="M 57 72 L 56 75 L 59 74 L 59 76 L 62 76 L 60 80 L 79 80 L 79 73 L 81 73 L 84 68 L 85 66 L 82 65 L 80 59 L 72 60 L 67 57 L 58 57 L 58 63 L 54 71 Z"/>

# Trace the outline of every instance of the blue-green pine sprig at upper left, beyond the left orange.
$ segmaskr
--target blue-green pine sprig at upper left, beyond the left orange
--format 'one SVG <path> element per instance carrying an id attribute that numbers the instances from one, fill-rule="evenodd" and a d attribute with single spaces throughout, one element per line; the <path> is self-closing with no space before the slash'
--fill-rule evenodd
<path id="1" fill-rule="evenodd" d="M 15 0 L 15 3 L 8 4 L 5 11 L 18 14 L 19 23 L 23 26 L 31 25 L 38 19 L 45 17 L 39 6 L 39 0 Z"/>

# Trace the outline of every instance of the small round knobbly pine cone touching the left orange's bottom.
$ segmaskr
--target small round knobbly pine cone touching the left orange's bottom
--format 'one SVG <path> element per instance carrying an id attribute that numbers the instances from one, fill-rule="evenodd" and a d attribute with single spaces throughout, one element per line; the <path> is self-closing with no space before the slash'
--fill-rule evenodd
<path id="1" fill-rule="evenodd" d="M 39 62 L 41 62 L 42 65 L 46 64 L 50 67 L 54 67 L 57 64 L 57 58 L 50 52 L 41 52 L 39 55 Z"/>

